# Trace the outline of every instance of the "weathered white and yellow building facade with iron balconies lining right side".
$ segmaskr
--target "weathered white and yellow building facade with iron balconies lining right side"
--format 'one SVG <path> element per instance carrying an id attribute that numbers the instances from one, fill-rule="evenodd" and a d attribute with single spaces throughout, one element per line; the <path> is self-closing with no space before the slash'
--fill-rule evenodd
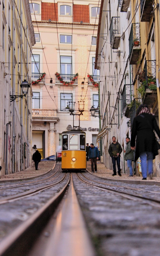
<path id="1" fill-rule="evenodd" d="M 103 160 L 110 169 L 108 148 L 112 136 L 116 136 L 125 149 L 125 138 L 131 135 L 136 109 L 141 103 L 150 107 L 157 122 L 160 120 L 158 24 L 159 3 L 153 5 L 146 0 L 101 2 L 95 68 L 100 70 L 102 80 L 100 107 L 104 118 L 101 126 L 108 128 L 101 136 Z M 156 156 L 154 175 L 158 176 L 159 162 Z M 121 168 L 122 172 L 127 172 L 123 152 Z M 139 169 L 136 173 L 139 175 Z"/>

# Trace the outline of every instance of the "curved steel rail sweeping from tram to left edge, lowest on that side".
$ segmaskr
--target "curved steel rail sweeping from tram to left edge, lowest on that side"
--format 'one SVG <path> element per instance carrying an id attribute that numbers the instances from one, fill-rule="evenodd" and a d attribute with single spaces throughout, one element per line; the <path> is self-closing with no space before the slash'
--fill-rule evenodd
<path id="1" fill-rule="evenodd" d="M 61 183 L 65 179 L 65 177 L 66 177 L 66 173 L 64 174 L 64 176 L 61 180 L 59 180 L 58 182 L 56 182 L 54 184 L 50 184 L 50 185 L 42 186 L 42 187 L 39 187 L 39 188 L 31 189 L 31 190 L 22 192 L 21 194 L 18 194 L 18 195 L 5 197 L 2 200 L 0 200 L 0 205 L 1 204 L 6 204 L 6 203 L 9 203 L 9 202 L 14 202 L 14 201 L 17 201 L 17 200 L 25 198 L 25 197 L 33 196 L 33 195 L 35 195 L 35 194 L 37 194 L 37 193 L 39 193 L 43 190 L 46 190 L 48 188 L 51 188 L 51 187 Z"/>

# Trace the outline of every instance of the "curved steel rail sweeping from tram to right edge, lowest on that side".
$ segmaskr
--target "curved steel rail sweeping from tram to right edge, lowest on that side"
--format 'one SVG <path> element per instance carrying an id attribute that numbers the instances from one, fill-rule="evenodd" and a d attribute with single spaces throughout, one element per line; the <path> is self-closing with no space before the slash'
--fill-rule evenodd
<path id="1" fill-rule="evenodd" d="M 117 191 L 117 190 L 115 190 L 115 189 L 113 189 L 113 188 L 101 187 L 100 185 L 94 185 L 94 184 L 92 184 L 92 183 L 90 183 L 90 182 L 87 182 L 87 181 L 83 180 L 83 179 L 78 175 L 78 173 L 77 173 L 77 176 L 78 176 L 78 178 L 79 178 L 81 181 L 83 181 L 84 183 L 89 184 L 89 185 L 91 185 L 91 186 L 94 186 L 94 187 L 96 187 L 96 188 L 99 188 L 99 189 L 101 189 L 101 190 L 104 190 L 104 191 L 108 190 L 108 191 L 110 191 L 111 193 L 115 193 L 115 194 L 118 194 L 118 195 L 120 195 L 120 196 L 122 196 L 122 197 L 126 197 L 126 198 L 132 199 L 132 200 L 137 200 L 137 199 L 143 200 L 143 201 L 145 200 L 146 203 L 148 203 L 148 204 L 150 204 L 150 205 L 152 205 L 152 206 L 154 206 L 154 207 L 160 208 L 160 200 L 152 199 L 152 198 L 147 198 L 147 197 L 143 197 L 143 196 L 140 196 L 140 195 L 133 195 L 133 194 L 130 194 L 130 193 L 127 193 L 127 192 Z M 123 187 L 123 186 L 122 186 L 122 187 Z M 152 202 L 154 202 L 154 204 L 153 204 Z M 155 204 L 155 203 L 156 203 L 156 204 Z"/>

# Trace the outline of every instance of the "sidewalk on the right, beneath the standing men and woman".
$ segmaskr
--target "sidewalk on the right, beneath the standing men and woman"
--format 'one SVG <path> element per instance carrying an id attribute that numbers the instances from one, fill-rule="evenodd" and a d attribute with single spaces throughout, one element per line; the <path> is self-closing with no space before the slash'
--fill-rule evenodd
<path id="1" fill-rule="evenodd" d="M 91 173 L 91 163 L 87 161 L 87 170 Z M 92 175 L 96 175 L 98 177 L 105 178 L 106 180 L 111 181 L 121 181 L 124 183 L 131 184 L 146 184 L 146 185 L 158 185 L 160 186 L 160 177 L 153 177 L 153 179 L 142 180 L 142 177 L 134 175 L 133 177 L 128 177 L 129 174 L 122 173 L 122 176 L 118 174 L 116 176 L 112 176 L 113 170 L 109 170 L 105 167 L 104 163 L 97 161 L 97 173 L 91 173 Z"/>

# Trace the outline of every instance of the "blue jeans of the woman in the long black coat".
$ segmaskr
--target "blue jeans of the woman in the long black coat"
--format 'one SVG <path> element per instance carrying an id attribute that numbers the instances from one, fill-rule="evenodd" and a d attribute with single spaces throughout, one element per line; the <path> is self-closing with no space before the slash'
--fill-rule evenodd
<path id="1" fill-rule="evenodd" d="M 146 178 L 147 171 L 148 175 L 153 173 L 153 153 L 148 151 L 140 153 L 140 161 L 142 176 L 143 178 Z"/>

